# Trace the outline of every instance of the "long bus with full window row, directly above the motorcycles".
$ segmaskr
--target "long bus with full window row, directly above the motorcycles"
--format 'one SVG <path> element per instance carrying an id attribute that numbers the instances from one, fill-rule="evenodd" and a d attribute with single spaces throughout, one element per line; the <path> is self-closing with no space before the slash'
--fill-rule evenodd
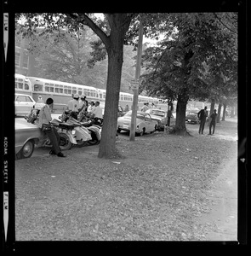
<path id="1" fill-rule="evenodd" d="M 35 77 L 28 77 L 28 79 L 31 81 L 32 97 L 36 102 L 38 96 L 42 96 L 43 99 L 53 98 L 55 103 L 67 104 L 72 94 L 85 95 L 88 102 L 100 101 L 99 90 L 92 86 Z"/>

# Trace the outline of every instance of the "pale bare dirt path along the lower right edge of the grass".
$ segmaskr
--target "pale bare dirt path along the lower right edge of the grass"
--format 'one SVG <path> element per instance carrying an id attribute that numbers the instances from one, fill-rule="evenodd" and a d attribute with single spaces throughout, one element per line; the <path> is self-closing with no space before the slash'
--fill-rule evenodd
<path id="1" fill-rule="evenodd" d="M 225 161 L 220 169 L 208 193 L 211 211 L 198 222 L 205 227 L 206 241 L 237 241 L 237 158 Z"/>

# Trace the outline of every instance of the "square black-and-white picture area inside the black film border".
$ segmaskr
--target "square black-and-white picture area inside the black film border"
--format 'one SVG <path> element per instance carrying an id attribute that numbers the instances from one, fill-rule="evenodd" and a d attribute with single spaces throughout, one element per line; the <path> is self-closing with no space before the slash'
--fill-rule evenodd
<path id="1" fill-rule="evenodd" d="M 240 243 L 237 11 L 4 15 L 3 240 Z"/>

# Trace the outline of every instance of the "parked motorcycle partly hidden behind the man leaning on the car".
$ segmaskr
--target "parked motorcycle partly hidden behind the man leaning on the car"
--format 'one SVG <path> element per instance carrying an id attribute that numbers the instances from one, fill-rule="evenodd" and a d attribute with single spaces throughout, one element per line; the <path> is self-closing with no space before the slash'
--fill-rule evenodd
<path id="1" fill-rule="evenodd" d="M 29 113 L 25 119 L 28 123 L 31 123 L 33 125 L 38 125 L 38 119 L 39 119 L 39 112 L 40 109 L 32 108 L 31 113 Z M 76 143 L 76 139 L 73 136 L 72 130 L 74 129 L 74 125 L 66 124 L 66 123 L 60 123 L 57 119 L 52 119 L 50 122 L 51 125 L 53 125 L 56 130 L 58 131 L 60 135 L 60 149 L 61 150 L 68 150 L 71 148 L 73 143 Z M 45 132 L 41 131 L 41 137 L 39 137 L 39 143 L 37 147 L 51 147 L 50 140 Z"/>

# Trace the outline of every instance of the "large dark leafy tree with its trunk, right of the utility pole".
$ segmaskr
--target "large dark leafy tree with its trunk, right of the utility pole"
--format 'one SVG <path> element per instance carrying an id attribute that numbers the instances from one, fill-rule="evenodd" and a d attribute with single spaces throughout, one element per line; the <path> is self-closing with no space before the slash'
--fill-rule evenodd
<path id="1" fill-rule="evenodd" d="M 184 131 L 188 100 L 205 101 L 214 91 L 223 93 L 224 86 L 231 87 L 215 83 L 217 78 L 237 80 L 237 15 L 227 16 L 232 22 L 225 21 L 225 14 L 214 13 L 168 17 L 167 35 L 143 55 L 146 72 L 141 86 L 151 95 L 178 100 L 176 126 Z"/>

